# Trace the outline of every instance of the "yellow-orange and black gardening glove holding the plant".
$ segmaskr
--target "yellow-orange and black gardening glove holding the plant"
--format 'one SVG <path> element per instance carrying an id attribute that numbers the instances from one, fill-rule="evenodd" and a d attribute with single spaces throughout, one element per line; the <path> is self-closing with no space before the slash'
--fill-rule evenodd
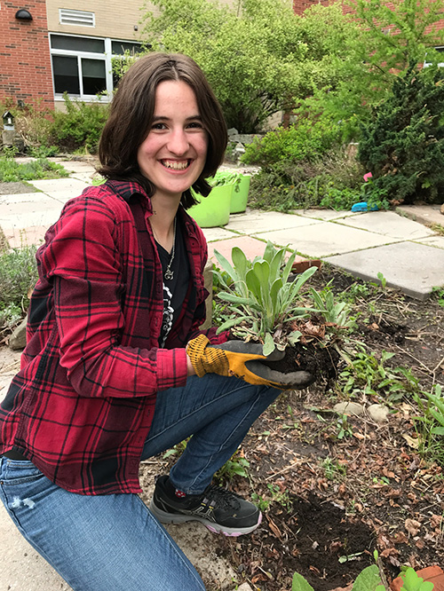
<path id="1" fill-rule="evenodd" d="M 283 351 L 275 349 L 271 355 L 265 356 L 262 353 L 262 345 L 259 343 L 243 341 L 228 341 L 218 345 L 209 343 L 205 335 L 199 335 L 186 347 L 194 371 L 199 377 L 204 374 L 234 375 L 244 382 L 271 386 L 278 390 L 300 390 L 314 381 L 313 375 L 309 372 L 282 374 L 261 363 L 264 359 L 279 361 L 285 355 Z"/>

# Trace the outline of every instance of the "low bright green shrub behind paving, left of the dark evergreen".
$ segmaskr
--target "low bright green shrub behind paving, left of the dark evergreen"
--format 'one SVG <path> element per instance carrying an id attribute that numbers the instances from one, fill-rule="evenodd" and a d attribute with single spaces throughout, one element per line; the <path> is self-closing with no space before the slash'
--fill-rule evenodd
<path id="1" fill-rule="evenodd" d="M 281 161 L 316 162 L 337 144 L 339 128 L 328 119 L 315 122 L 305 117 L 289 128 L 269 131 L 264 138 L 255 138 L 245 148 L 242 162 L 258 164 L 265 169 Z"/>

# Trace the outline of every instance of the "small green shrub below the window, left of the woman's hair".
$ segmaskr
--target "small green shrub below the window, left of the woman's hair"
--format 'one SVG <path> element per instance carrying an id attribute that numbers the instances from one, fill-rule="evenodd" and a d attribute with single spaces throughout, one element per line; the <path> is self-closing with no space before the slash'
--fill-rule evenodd
<path id="1" fill-rule="evenodd" d="M 86 104 L 67 95 L 64 98 L 66 113 L 52 113 L 47 143 L 68 152 L 85 149 L 96 154 L 100 134 L 107 122 L 108 106 L 98 102 Z"/>

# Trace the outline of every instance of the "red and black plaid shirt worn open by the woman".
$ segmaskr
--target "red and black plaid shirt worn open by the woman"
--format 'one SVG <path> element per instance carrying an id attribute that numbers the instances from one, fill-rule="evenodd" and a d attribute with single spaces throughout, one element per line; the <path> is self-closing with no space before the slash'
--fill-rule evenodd
<path id="1" fill-rule="evenodd" d="M 157 392 L 186 383 L 185 344 L 205 318 L 201 229 L 185 210 L 192 279 L 165 349 L 162 266 L 146 222 L 145 261 L 128 201 L 136 183 L 107 181 L 68 201 L 37 251 L 28 344 L 0 406 L 0 453 L 24 453 L 62 488 L 139 493 L 139 460 Z M 134 198 L 134 197 L 133 197 Z M 206 333 L 213 343 L 226 335 Z"/>

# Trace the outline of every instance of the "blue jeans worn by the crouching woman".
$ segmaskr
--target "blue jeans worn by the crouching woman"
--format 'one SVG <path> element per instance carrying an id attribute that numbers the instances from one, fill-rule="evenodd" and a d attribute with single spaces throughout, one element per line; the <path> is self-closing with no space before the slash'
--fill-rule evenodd
<path id="1" fill-rule="evenodd" d="M 170 471 L 201 493 L 279 395 L 207 374 L 159 392 L 142 459 L 192 436 Z M 54 485 L 30 461 L 0 458 L 0 498 L 37 552 L 75 591 L 202 591 L 194 566 L 136 494 L 86 496 Z"/>

